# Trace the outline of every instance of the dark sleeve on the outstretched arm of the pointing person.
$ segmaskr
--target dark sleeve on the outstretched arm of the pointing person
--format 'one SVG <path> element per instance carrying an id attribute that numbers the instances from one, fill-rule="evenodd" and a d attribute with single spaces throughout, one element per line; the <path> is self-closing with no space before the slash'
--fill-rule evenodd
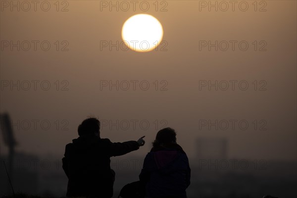
<path id="1" fill-rule="evenodd" d="M 128 141 L 123 143 L 111 143 L 110 140 L 108 141 L 110 146 L 110 156 L 120 156 L 139 149 L 139 144 L 136 141 Z"/>

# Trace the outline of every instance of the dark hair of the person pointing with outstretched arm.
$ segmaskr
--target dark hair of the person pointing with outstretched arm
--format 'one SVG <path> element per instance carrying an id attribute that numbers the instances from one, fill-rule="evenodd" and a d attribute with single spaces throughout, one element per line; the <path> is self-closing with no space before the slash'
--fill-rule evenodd
<path id="1" fill-rule="evenodd" d="M 79 126 L 78 126 L 78 135 L 86 135 L 86 134 L 94 134 L 100 132 L 100 121 L 97 118 L 88 118 L 85 119 Z"/>

